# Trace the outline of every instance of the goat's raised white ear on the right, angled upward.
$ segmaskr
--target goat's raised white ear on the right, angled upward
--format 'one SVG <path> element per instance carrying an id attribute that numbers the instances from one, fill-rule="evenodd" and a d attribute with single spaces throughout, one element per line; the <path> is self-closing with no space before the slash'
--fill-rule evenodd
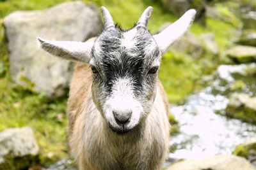
<path id="1" fill-rule="evenodd" d="M 179 18 L 172 25 L 161 31 L 159 34 L 154 35 L 159 49 L 164 54 L 168 48 L 187 31 L 192 24 L 196 15 L 196 10 L 188 10 L 182 17 Z"/>

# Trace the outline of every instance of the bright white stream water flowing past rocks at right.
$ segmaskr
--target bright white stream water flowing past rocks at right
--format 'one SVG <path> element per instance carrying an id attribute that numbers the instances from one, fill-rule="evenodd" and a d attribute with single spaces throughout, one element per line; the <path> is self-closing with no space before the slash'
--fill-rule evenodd
<path id="1" fill-rule="evenodd" d="M 239 143 L 255 139 L 256 125 L 223 116 L 236 80 L 244 81 L 243 88 L 237 92 L 255 95 L 255 84 L 246 75 L 247 69 L 255 68 L 254 63 L 221 65 L 207 78 L 211 79 L 208 87 L 189 96 L 184 105 L 170 106 L 170 113 L 179 122 L 180 133 L 170 137 L 170 147 L 175 151 L 169 153 L 169 162 L 231 154 Z"/>

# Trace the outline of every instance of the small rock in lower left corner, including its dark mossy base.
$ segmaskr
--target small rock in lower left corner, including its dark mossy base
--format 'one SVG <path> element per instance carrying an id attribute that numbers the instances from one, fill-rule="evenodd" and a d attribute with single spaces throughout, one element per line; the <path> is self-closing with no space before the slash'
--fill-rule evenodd
<path id="1" fill-rule="evenodd" d="M 0 132 L 0 169 L 24 169 L 38 163 L 39 147 L 30 127 Z"/>

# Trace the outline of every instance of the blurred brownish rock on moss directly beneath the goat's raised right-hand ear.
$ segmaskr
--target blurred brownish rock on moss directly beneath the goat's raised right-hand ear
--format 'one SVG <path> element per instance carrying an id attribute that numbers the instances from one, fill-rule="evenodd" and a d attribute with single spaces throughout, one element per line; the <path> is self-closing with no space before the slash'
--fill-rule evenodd
<path id="1" fill-rule="evenodd" d="M 195 58 L 200 58 L 204 53 L 200 41 L 188 31 L 171 46 L 171 49 L 188 53 Z"/>

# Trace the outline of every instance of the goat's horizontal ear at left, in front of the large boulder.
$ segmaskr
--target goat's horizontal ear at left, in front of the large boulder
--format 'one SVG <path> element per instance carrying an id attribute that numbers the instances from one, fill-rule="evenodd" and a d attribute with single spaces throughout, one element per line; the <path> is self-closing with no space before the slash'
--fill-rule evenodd
<path id="1" fill-rule="evenodd" d="M 40 48 L 62 59 L 90 62 L 93 42 L 49 41 L 37 38 Z"/>

